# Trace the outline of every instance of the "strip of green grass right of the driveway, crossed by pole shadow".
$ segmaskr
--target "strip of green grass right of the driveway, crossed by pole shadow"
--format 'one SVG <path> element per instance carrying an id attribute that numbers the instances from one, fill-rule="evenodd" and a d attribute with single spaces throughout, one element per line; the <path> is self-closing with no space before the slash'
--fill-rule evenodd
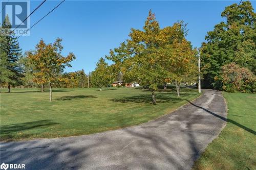
<path id="1" fill-rule="evenodd" d="M 256 169 L 256 95 L 224 92 L 227 125 L 194 169 Z"/>

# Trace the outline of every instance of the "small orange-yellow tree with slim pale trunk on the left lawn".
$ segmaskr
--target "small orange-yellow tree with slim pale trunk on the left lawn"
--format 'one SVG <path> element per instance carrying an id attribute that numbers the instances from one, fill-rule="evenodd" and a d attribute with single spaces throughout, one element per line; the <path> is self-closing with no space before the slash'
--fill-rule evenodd
<path id="1" fill-rule="evenodd" d="M 60 74 L 66 66 L 71 67 L 70 62 L 75 59 L 73 53 L 69 53 L 67 57 L 61 55 L 63 46 L 61 38 L 57 38 L 52 44 L 46 44 L 44 40 L 35 47 L 35 53 L 29 53 L 28 58 L 35 67 L 33 81 L 38 84 L 49 84 L 50 87 L 50 102 L 52 101 L 52 85 L 57 80 L 60 80 Z"/>

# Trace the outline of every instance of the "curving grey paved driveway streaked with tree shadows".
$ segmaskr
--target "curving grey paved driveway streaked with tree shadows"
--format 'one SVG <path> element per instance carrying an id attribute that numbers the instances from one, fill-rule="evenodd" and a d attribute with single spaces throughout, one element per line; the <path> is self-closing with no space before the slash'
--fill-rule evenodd
<path id="1" fill-rule="evenodd" d="M 0 143 L 1 163 L 26 169 L 190 169 L 225 126 L 221 92 L 140 126 L 76 137 Z"/>

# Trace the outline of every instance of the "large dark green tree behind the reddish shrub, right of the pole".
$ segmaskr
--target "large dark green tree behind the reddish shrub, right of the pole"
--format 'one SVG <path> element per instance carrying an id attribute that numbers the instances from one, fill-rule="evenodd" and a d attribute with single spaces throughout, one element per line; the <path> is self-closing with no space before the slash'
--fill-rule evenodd
<path id="1" fill-rule="evenodd" d="M 202 43 L 203 85 L 221 88 L 221 67 L 234 62 L 256 71 L 256 15 L 249 1 L 232 4 L 221 13 L 222 21 L 209 31 Z"/>

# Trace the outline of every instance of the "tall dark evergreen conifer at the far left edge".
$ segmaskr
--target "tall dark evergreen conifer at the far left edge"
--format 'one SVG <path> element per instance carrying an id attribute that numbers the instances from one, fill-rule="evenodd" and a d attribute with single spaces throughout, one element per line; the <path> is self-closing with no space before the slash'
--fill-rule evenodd
<path id="1" fill-rule="evenodd" d="M 6 34 L 0 36 L 0 82 L 7 84 L 8 92 L 10 85 L 17 86 L 22 84 L 22 67 L 18 64 L 18 59 L 22 56 L 22 50 L 19 48 L 17 37 L 11 31 L 11 25 L 8 15 L 1 30 L 5 29 Z"/>

